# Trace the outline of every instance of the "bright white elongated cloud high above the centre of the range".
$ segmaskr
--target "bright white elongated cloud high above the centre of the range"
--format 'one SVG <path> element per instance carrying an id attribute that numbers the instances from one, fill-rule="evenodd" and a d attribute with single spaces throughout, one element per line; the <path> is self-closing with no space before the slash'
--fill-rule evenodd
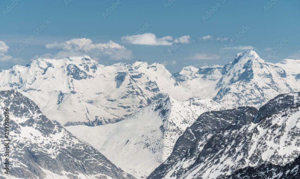
<path id="1" fill-rule="evenodd" d="M 121 40 L 124 43 L 130 42 L 132 44 L 140 44 L 140 45 L 172 45 L 173 44 L 173 37 L 166 36 L 163 38 L 158 38 L 155 36 L 155 34 L 152 33 L 123 36 Z"/>

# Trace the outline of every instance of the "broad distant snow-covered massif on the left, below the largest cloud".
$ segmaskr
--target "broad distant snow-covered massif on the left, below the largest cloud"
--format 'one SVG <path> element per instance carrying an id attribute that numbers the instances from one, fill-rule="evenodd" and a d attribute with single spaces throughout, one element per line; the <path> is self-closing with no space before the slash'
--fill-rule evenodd
<path id="1" fill-rule="evenodd" d="M 118 122 L 164 95 L 190 97 L 161 64 L 104 66 L 89 57 L 39 58 L 1 70 L 0 88 L 19 89 L 63 125 Z"/>

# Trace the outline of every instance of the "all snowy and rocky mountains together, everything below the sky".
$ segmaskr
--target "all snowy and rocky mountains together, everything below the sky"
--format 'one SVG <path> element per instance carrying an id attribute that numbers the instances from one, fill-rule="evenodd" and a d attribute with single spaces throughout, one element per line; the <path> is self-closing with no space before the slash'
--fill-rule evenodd
<path id="1" fill-rule="evenodd" d="M 0 71 L 1 107 L 16 104 L 13 148 L 29 158 L 14 162 L 33 178 L 288 178 L 300 155 L 299 68 L 254 51 L 175 74 L 140 60 L 39 58 Z"/>

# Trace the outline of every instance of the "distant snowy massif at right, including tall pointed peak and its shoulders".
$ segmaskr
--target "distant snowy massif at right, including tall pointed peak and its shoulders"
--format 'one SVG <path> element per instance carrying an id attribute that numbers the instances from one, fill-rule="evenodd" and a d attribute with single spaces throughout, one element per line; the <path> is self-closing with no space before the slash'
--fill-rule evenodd
<path id="1" fill-rule="evenodd" d="M 300 90 L 299 65 L 299 60 L 268 63 L 250 50 L 224 67 L 187 66 L 173 75 L 194 97 L 209 97 L 229 108 L 260 107 L 279 94 Z"/>

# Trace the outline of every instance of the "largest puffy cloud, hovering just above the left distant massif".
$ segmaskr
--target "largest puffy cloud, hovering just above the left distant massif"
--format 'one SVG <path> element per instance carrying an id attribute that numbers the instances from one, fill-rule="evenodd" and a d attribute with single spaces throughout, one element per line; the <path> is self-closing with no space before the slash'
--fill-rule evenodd
<path id="1" fill-rule="evenodd" d="M 46 44 L 46 48 L 59 50 L 57 54 L 45 54 L 49 58 L 60 59 L 70 56 L 89 55 L 93 57 L 110 57 L 111 60 L 131 59 L 132 51 L 123 45 L 109 41 L 108 43 L 93 43 L 91 39 L 72 39 L 64 43 Z"/>

